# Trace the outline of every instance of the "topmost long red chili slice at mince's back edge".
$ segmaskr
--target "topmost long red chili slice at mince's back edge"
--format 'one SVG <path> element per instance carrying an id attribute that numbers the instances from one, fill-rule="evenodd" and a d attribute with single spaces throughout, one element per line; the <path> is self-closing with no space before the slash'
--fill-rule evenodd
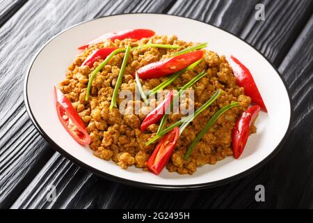
<path id="1" fill-rule="evenodd" d="M 91 44 L 100 43 L 102 40 L 125 40 L 125 39 L 134 39 L 134 40 L 141 40 L 142 38 L 150 38 L 154 36 L 154 31 L 150 29 L 132 29 L 132 30 L 125 30 L 119 31 L 114 33 L 106 33 L 99 38 L 87 43 L 79 47 L 78 49 L 86 49 Z"/>

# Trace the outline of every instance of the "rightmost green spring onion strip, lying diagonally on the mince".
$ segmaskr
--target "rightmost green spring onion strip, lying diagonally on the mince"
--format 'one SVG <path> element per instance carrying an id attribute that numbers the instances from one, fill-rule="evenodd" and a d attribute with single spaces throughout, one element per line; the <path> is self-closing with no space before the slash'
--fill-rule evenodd
<path id="1" fill-rule="evenodd" d="M 191 155 L 191 153 L 193 152 L 193 148 L 195 148 L 195 146 L 198 144 L 198 142 L 202 139 L 202 137 L 204 136 L 204 134 L 207 133 L 207 131 L 209 131 L 209 129 L 212 127 L 212 125 L 214 125 L 214 123 L 216 122 L 216 120 L 218 120 L 218 118 L 224 113 L 226 112 L 228 109 L 231 109 L 232 107 L 236 107 L 239 106 L 239 102 L 232 102 L 230 105 L 226 105 L 225 107 L 221 108 L 218 112 L 216 112 L 216 114 L 214 114 L 214 116 L 212 116 L 209 120 L 209 122 L 207 123 L 207 125 L 204 126 L 203 130 L 198 134 L 197 137 L 195 137 L 195 140 L 193 141 L 193 143 L 191 144 L 191 146 L 189 146 L 188 151 L 186 153 L 186 155 L 184 156 L 184 160 L 188 160 L 189 156 Z"/>

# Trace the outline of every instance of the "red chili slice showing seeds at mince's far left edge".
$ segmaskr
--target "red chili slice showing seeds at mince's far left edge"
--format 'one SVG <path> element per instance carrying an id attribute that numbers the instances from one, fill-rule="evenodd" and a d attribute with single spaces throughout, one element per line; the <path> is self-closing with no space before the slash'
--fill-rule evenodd
<path id="1" fill-rule="evenodd" d="M 56 99 L 56 111 L 58 118 L 68 133 L 81 145 L 90 144 L 90 136 L 86 131 L 85 123 L 76 112 L 72 103 L 63 93 L 54 86 L 54 97 Z"/>

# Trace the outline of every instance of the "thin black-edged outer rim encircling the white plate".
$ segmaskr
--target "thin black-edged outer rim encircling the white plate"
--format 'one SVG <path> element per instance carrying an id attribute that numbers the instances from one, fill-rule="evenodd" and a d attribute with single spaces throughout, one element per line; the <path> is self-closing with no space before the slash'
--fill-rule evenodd
<path id="1" fill-rule="evenodd" d="M 284 85 L 284 89 L 287 91 L 287 95 L 288 95 L 288 99 L 289 99 L 289 106 L 290 106 L 289 125 L 288 125 L 288 128 L 287 128 L 287 131 L 284 133 L 284 137 L 282 137 L 282 140 L 280 141 L 278 146 L 276 146 L 274 148 L 274 150 L 264 158 L 264 160 L 262 160 L 261 162 L 255 164 L 253 167 L 250 167 L 249 169 L 246 169 L 245 171 L 243 171 L 243 172 L 241 172 L 239 174 L 236 174 L 234 176 L 230 176 L 230 177 L 227 177 L 227 178 L 223 178 L 222 180 L 215 180 L 215 181 L 212 181 L 212 182 L 209 182 L 209 183 L 199 183 L 199 184 L 195 184 L 195 185 L 162 185 L 162 184 L 153 184 L 153 183 L 143 183 L 143 182 L 138 182 L 136 180 L 129 180 L 129 179 L 121 178 L 119 176 L 114 176 L 114 175 L 111 175 L 109 173 L 105 173 L 104 171 L 100 171 L 99 169 L 95 169 L 94 167 L 91 167 L 90 165 L 82 162 L 81 160 L 77 159 L 76 157 L 74 157 L 70 153 L 67 153 L 67 151 L 65 151 L 63 148 L 61 148 L 61 146 L 58 146 L 58 144 L 56 144 L 56 142 L 53 141 L 45 131 L 42 130 L 42 128 L 40 127 L 40 125 L 36 121 L 35 116 L 33 115 L 33 112 L 31 111 L 31 107 L 29 105 L 29 99 L 28 99 L 28 95 L 27 95 L 27 83 L 28 83 L 28 80 L 29 80 L 29 74 L 30 74 L 31 68 L 33 66 L 33 63 L 34 63 L 35 59 L 37 59 L 37 57 L 39 56 L 40 52 L 42 52 L 42 50 L 45 49 L 45 47 L 52 40 L 54 40 L 56 37 L 60 36 L 62 33 L 65 33 L 66 31 L 74 28 L 75 26 L 79 26 L 79 25 L 87 23 L 87 22 L 92 22 L 94 20 L 100 20 L 100 19 L 102 19 L 104 17 L 114 17 L 114 16 L 120 16 L 120 15 L 165 15 L 165 16 L 169 16 L 169 17 L 170 16 L 172 16 L 172 17 L 182 17 L 184 19 L 194 20 L 194 21 L 206 24 L 208 26 L 214 26 L 217 29 L 225 31 L 226 33 L 230 33 L 232 36 L 238 38 L 239 40 L 242 40 L 244 43 L 248 44 L 250 47 L 255 49 L 255 51 L 257 53 L 259 53 L 274 68 L 274 70 L 278 73 L 278 76 L 280 77 L 280 79 L 282 80 L 282 84 Z M 253 171 L 256 171 L 260 167 L 264 166 L 264 164 L 266 164 L 275 155 L 277 155 L 277 153 L 280 151 L 280 149 L 282 148 L 282 146 L 286 142 L 287 137 L 289 136 L 289 134 L 291 132 L 291 126 L 294 123 L 294 104 L 293 104 L 293 101 L 291 100 L 291 94 L 289 92 L 289 88 L 287 87 L 287 83 L 282 78 L 282 75 L 278 71 L 278 69 L 273 65 L 273 63 L 271 61 L 269 61 L 266 58 L 266 56 L 264 56 L 264 54 L 262 54 L 262 52 L 259 52 L 258 49 L 253 47 L 246 40 L 243 40 L 241 37 L 236 36 L 234 33 L 231 33 L 230 31 L 227 31 L 227 30 L 225 30 L 223 28 L 220 28 L 220 27 L 218 27 L 218 26 L 216 26 L 214 24 L 208 24 L 206 22 L 202 22 L 200 20 L 189 18 L 189 17 L 184 17 L 182 15 L 168 15 L 168 14 L 162 14 L 162 13 L 119 13 L 119 14 L 114 14 L 114 15 L 105 15 L 105 16 L 102 16 L 102 17 L 94 18 L 92 20 L 79 22 L 77 24 L 74 24 L 74 25 L 68 27 L 67 29 L 64 29 L 63 31 L 57 33 L 56 35 L 51 37 L 49 40 L 47 40 L 47 42 L 44 45 L 42 45 L 42 47 L 40 47 L 40 49 L 38 49 L 37 52 L 35 52 L 35 55 L 33 56 L 33 59 L 31 59 L 31 63 L 29 64 L 29 68 L 26 70 L 26 75 L 24 77 L 23 95 L 24 95 L 24 105 L 26 107 L 26 112 L 29 115 L 29 117 L 31 118 L 31 121 L 32 121 L 33 125 L 38 130 L 38 132 L 41 134 L 41 136 L 49 143 L 49 145 L 52 148 L 54 148 L 58 153 L 61 153 L 61 155 L 65 156 L 71 162 L 74 162 L 74 163 L 78 164 L 79 167 L 81 167 L 81 168 L 83 168 L 83 169 L 85 169 L 87 171 L 90 171 L 90 172 L 92 172 L 93 174 L 95 174 L 97 176 L 105 178 L 106 180 L 113 180 L 116 183 L 122 183 L 122 184 L 125 184 L 125 185 L 131 185 L 131 186 L 135 186 L 135 187 L 143 187 L 143 188 L 154 189 L 154 190 L 199 190 L 199 189 L 204 189 L 204 188 L 209 188 L 209 187 L 217 187 L 217 186 L 220 186 L 220 185 L 226 185 L 228 183 L 232 183 L 232 182 L 234 182 L 236 180 L 239 180 L 239 179 L 243 178 L 244 176 L 248 176 Z"/>

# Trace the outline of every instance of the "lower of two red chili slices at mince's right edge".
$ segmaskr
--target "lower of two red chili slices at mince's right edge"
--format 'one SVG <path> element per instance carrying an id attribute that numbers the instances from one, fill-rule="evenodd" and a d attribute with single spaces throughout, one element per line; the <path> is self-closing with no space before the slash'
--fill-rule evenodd
<path id="1" fill-rule="evenodd" d="M 250 127 L 252 122 L 255 121 L 261 107 L 254 105 L 246 109 L 236 121 L 236 125 L 232 130 L 232 148 L 234 157 L 238 159 L 246 146 L 250 134 Z"/>

